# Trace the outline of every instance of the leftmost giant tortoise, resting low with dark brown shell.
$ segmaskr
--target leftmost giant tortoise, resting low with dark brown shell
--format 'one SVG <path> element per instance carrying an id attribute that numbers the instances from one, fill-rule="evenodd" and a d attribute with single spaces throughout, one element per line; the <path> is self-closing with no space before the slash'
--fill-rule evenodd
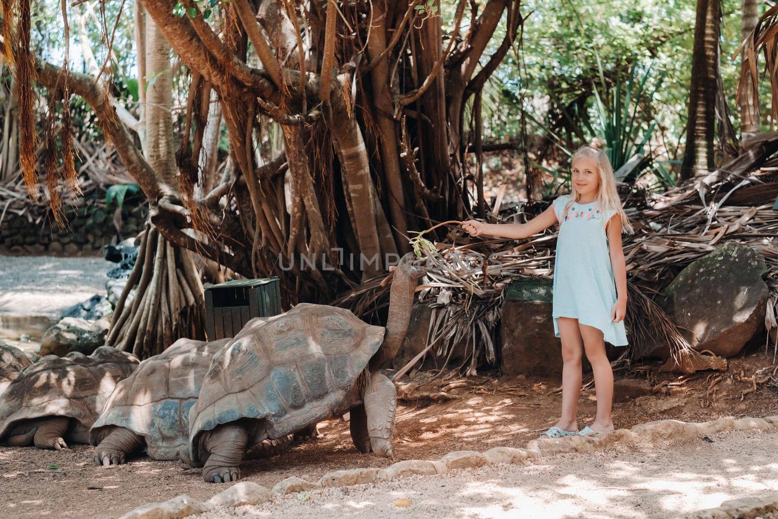
<path id="1" fill-rule="evenodd" d="M 110 346 L 91 355 L 47 355 L 27 367 L 0 395 L 0 443 L 40 449 L 89 444 L 89 427 L 117 382 L 138 366 L 138 357 Z"/>

